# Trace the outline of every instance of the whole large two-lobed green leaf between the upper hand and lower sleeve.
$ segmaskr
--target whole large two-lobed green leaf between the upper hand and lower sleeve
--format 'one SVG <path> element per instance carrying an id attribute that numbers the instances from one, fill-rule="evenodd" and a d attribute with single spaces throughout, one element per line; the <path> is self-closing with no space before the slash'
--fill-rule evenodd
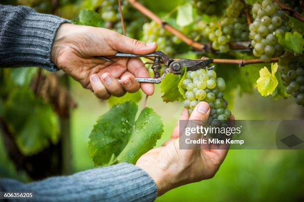
<path id="1" fill-rule="evenodd" d="M 101 115 L 89 136 L 89 155 L 95 165 L 135 163 L 148 152 L 163 132 L 160 116 L 146 107 L 135 122 L 138 106 L 128 101 Z M 134 125 L 135 122 L 135 125 Z"/>

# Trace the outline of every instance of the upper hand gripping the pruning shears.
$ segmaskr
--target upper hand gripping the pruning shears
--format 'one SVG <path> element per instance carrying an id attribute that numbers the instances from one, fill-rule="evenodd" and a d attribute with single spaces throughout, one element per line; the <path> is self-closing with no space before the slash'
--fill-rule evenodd
<path id="1" fill-rule="evenodd" d="M 150 77 L 139 58 L 113 57 L 114 62 L 108 62 L 94 56 L 111 56 L 117 52 L 148 54 L 156 47 L 155 43 L 145 44 L 108 29 L 65 23 L 57 31 L 51 60 L 100 99 L 109 99 L 111 95 L 120 97 L 126 91 L 133 93 L 140 88 L 152 95 L 152 84 L 135 80 Z"/>

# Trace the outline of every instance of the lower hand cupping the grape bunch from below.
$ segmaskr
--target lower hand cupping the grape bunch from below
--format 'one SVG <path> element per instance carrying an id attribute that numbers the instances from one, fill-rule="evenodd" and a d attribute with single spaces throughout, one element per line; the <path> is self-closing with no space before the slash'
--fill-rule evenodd
<path id="1" fill-rule="evenodd" d="M 180 120 L 208 120 L 209 113 L 209 104 L 200 102 L 190 117 L 187 109 L 184 109 Z M 231 116 L 230 119 L 233 120 L 234 117 Z M 191 127 L 203 122 L 192 122 Z M 160 196 L 175 187 L 212 178 L 220 168 L 227 152 L 227 145 L 218 148 L 214 144 L 210 145 L 209 149 L 180 150 L 178 122 L 170 140 L 162 147 L 154 148 L 142 155 L 136 166 L 151 176 Z"/>

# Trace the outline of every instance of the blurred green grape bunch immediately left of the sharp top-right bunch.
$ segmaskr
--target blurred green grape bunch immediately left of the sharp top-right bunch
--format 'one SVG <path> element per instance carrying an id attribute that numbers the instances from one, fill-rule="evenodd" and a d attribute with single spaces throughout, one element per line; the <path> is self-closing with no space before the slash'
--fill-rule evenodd
<path id="1" fill-rule="evenodd" d="M 228 52 L 229 42 L 247 41 L 249 32 L 245 14 L 241 13 L 244 3 L 232 0 L 226 9 L 225 17 L 217 24 L 211 22 L 203 35 L 212 41 L 212 48 L 221 52 Z"/>

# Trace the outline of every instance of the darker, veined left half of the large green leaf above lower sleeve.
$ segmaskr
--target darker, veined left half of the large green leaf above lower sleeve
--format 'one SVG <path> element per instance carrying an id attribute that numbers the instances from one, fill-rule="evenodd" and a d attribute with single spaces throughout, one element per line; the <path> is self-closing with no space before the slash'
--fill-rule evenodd
<path id="1" fill-rule="evenodd" d="M 101 115 L 94 125 L 88 142 L 89 155 L 95 165 L 107 164 L 127 145 L 138 106 L 134 102 L 114 105 Z"/>

